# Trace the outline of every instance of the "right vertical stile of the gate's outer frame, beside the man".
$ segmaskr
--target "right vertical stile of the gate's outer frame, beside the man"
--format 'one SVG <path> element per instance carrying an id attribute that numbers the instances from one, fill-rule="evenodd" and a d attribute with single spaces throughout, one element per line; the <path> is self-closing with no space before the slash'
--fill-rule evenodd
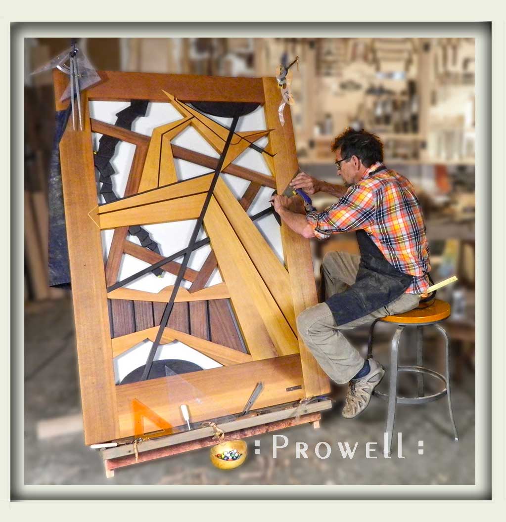
<path id="1" fill-rule="evenodd" d="M 293 138 L 290 107 L 285 107 L 285 125 L 279 122 L 278 108 L 281 94 L 275 78 L 263 78 L 265 99 L 265 121 L 274 129 L 269 136 L 269 145 L 276 151 L 274 165 L 276 189 L 283 193 L 293 175 L 298 172 L 297 151 Z M 285 263 L 290 274 L 290 289 L 293 309 L 297 316 L 309 306 L 317 304 L 313 264 L 309 241 L 291 231 L 285 224 L 281 226 Z M 311 352 L 299 336 L 300 358 L 304 375 L 305 396 L 314 397 L 330 392 L 330 383 Z"/>

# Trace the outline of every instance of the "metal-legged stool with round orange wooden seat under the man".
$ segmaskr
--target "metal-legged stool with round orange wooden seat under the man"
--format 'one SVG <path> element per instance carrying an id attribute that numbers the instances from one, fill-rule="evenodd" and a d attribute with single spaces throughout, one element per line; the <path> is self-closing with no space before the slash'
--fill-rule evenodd
<path id="1" fill-rule="evenodd" d="M 389 394 L 376 392 L 374 390 L 373 395 L 380 397 L 381 399 L 389 403 L 388 414 L 386 419 L 386 430 L 388 434 L 387 446 L 388 453 L 390 455 L 392 449 L 392 434 L 394 430 L 394 418 L 395 418 L 395 405 L 396 404 L 407 404 L 410 406 L 418 404 L 426 404 L 434 400 L 441 399 L 445 395 L 448 395 L 448 409 L 450 410 L 450 420 L 453 427 L 453 433 L 455 434 L 455 441 L 458 441 L 457 429 L 455 427 L 455 421 L 453 420 L 452 402 L 450 398 L 450 350 L 448 336 L 444 329 L 439 325 L 443 319 L 450 316 L 450 304 L 439 299 L 435 299 L 431 304 L 425 307 L 419 307 L 415 310 L 410 310 L 404 314 L 389 315 L 376 319 L 372 323 L 369 330 L 369 346 L 368 346 L 368 358 L 373 357 L 372 355 L 372 343 L 374 326 L 378 321 L 384 323 L 393 323 L 397 325 L 395 334 L 392 338 L 392 349 L 390 355 L 390 384 Z M 446 376 L 441 375 L 434 370 L 429 370 L 423 366 L 423 327 L 433 325 L 444 337 L 445 351 L 446 351 Z M 399 348 L 399 339 L 406 326 L 416 326 L 417 329 L 417 351 L 416 351 L 416 366 L 398 366 L 397 365 L 397 354 Z M 418 397 L 398 397 L 397 396 L 397 372 L 416 372 L 418 373 Z M 437 392 L 433 395 L 425 395 L 423 386 L 423 375 L 432 375 L 440 379 L 445 385 L 441 392 Z"/>

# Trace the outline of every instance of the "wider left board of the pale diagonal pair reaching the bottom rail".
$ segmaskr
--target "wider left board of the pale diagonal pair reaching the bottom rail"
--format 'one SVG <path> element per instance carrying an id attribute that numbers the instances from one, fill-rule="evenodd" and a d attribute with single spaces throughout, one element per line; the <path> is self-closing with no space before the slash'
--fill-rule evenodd
<path id="1" fill-rule="evenodd" d="M 214 197 L 204 226 L 253 358 L 297 352 L 297 338 Z"/>

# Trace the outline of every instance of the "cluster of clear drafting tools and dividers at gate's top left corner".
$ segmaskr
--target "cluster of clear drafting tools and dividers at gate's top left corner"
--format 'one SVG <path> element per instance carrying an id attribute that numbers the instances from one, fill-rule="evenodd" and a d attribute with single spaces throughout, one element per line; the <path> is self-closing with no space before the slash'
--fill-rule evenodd
<path id="1" fill-rule="evenodd" d="M 59 69 L 62 73 L 69 76 L 68 86 L 62 94 L 60 101 L 70 98 L 72 105 L 72 124 L 74 130 L 75 124 L 75 110 L 74 98 L 77 98 L 77 117 L 79 120 L 79 129 L 83 130 L 83 123 L 81 117 L 81 89 L 87 89 L 92 85 L 98 84 L 101 81 L 95 67 L 93 67 L 87 56 L 77 47 L 77 38 L 72 38 L 70 41 L 70 48 L 55 56 L 50 62 L 35 69 L 31 74 L 39 74 L 50 69 Z"/>

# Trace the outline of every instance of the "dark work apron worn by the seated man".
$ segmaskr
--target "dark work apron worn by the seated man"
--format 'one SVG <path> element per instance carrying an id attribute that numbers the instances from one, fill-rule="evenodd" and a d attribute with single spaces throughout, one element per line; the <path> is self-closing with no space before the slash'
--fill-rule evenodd
<path id="1" fill-rule="evenodd" d="M 379 169 L 371 172 L 384 170 Z M 357 231 L 360 264 L 355 283 L 331 295 L 325 303 L 330 307 L 337 325 L 355 321 L 399 298 L 413 282 L 414 277 L 391 265 L 365 230 Z"/>

